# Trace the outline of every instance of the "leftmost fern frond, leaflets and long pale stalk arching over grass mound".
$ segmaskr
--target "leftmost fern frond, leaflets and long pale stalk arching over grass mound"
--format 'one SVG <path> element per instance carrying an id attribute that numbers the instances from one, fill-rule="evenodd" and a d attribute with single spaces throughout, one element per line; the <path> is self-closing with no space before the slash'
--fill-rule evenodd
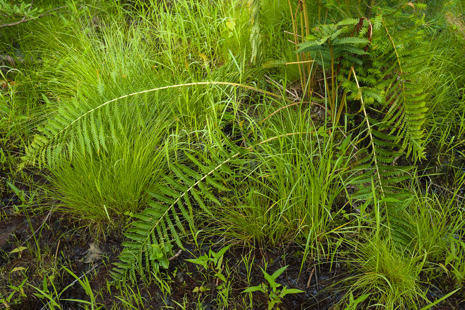
<path id="1" fill-rule="evenodd" d="M 112 86 L 117 89 L 116 73 L 112 73 L 111 76 L 114 78 Z M 125 114 L 126 118 L 131 118 L 129 122 L 132 124 L 136 122 L 141 127 L 145 124 L 144 117 L 142 117 L 143 111 L 141 111 L 139 105 L 132 104 L 131 98 L 163 89 L 196 85 L 240 87 L 279 97 L 279 95 L 256 87 L 232 82 L 194 82 L 134 91 L 129 94 L 127 90 L 119 89 L 120 92 L 126 93 L 119 97 L 116 97 L 113 93 L 107 94 L 104 88 L 97 86 L 98 91 L 94 94 L 95 98 L 88 98 L 82 93 L 77 93 L 75 97 L 71 98 L 70 102 L 63 103 L 63 107 L 56 112 L 53 118 L 48 120 L 45 126 L 37 129 L 39 134 L 34 135 L 32 142 L 25 148 L 22 165 L 29 163 L 38 166 L 54 166 L 63 159 L 63 156 L 71 159 L 74 151 L 79 154 L 89 155 L 106 151 L 110 143 L 117 143 L 116 132 L 126 131 L 122 121 L 123 114 Z M 136 89 L 130 88 L 130 90 Z M 99 93 L 103 93 L 103 96 L 100 96 Z M 114 99 L 107 101 L 105 98 L 110 95 Z M 45 96 L 44 100 L 48 101 Z M 147 99 L 145 100 L 144 106 L 146 107 L 148 102 Z M 145 113 L 150 114 L 147 111 Z"/>

